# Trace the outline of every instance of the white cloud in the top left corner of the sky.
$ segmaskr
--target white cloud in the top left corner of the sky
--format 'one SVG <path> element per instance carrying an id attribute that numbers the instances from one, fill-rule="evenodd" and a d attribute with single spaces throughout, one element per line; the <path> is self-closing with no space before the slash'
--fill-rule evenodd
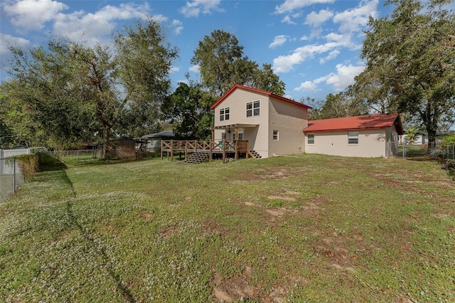
<path id="1" fill-rule="evenodd" d="M 68 9 L 67 5 L 52 0 L 21 0 L 4 5 L 11 23 L 29 30 L 41 30 L 45 22 L 52 21 L 56 14 L 65 9 Z"/>

